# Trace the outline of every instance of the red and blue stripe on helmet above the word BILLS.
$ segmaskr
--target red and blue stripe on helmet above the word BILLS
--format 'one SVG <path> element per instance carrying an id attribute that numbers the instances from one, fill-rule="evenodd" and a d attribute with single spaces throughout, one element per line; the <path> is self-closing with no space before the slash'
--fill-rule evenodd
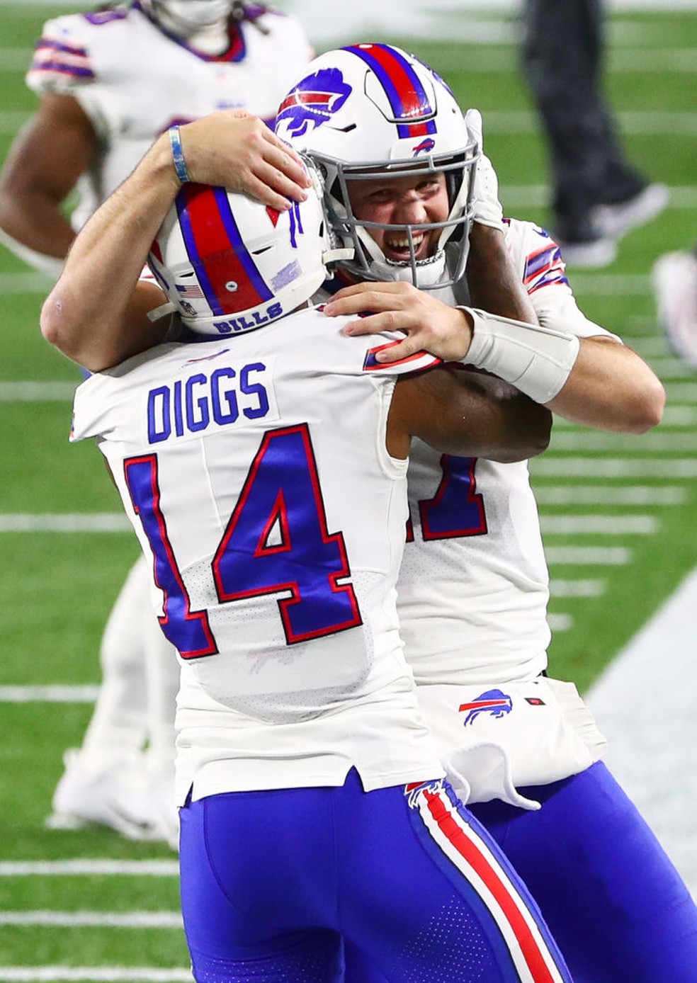
<path id="1" fill-rule="evenodd" d="M 224 188 L 186 184 L 176 205 L 187 255 L 215 317 L 273 299 L 245 246 Z"/>

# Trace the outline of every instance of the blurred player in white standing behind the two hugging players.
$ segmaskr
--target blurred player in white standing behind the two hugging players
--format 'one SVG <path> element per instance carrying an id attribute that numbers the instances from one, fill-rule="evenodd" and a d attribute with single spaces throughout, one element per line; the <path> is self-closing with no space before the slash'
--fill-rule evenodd
<path id="1" fill-rule="evenodd" d="M 159 133 L 223 108 L 271 121 L 311 56 L 292 17 L 233 0 L 142 0 L 48 21 L 27 76 L 38 110 L 0 175 L 0 240 L 58 276 L 75 230 Z M 247 134 L 251 153 L 257 146 L 266 152 L 264 138 Z M 292 161 L 281 160 L 285 166 L 303 181 Z M 63 206 L 74 189 L 69 220 Z M 261 183 L 258 194 L 264 192 Z M 129 837 L 174 842 L 177 672 L 152 620 L 147 583 L 139 560 L 106 625 L 94 714 L 82 748 L 66 754 L 49 822 L 97 822 Z"/>

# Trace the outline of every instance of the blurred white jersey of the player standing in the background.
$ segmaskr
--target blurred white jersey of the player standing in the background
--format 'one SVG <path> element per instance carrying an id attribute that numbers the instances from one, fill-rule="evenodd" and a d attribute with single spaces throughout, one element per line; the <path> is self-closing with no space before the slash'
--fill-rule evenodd
<path id="1" fill-rule="evenodd" d="M 300 24 L 278 11 L 231 25 L 230 45 L 216 56 L 166 34 L 137 3 L 47 21 L 27 84 L 39 95 L 73 95 L 102 145 L 79 185 L 76 229 L 172 124 L 216 109 L 271 121 L 312 57 Z"/>

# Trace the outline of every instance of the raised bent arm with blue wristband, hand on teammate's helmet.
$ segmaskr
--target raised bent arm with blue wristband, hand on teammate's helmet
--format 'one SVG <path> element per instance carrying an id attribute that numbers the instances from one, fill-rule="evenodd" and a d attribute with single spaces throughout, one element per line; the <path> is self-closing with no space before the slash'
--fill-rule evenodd
<path id="1" fill-rule="evenodd" d="M 301 199 L 308 178 L 296 154 L 260 119 L 222 111 L 180 131 L 192 181 L 225 185 L 280 209 Z M 87 221 L 41 311 L 44 337 L 90 372 L 164 340 L 170 318 L 150 313 L 166 300 L 139 282 L 152 240 L 180 188 L 169 135 L 160 136 L 127 180 Z"/>

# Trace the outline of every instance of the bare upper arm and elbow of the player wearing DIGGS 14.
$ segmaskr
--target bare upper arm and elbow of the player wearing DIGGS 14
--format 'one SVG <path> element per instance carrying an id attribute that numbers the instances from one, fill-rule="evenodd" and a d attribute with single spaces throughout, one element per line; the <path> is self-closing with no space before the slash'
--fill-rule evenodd
<path id="1" fill-rule="evenodd" d="M 552 414 L 493 376 L 441 366 L 397 379 L 387 449 L 406 457 L 412 436 L 461 457 L 521 461 L 550 442 Z"/>

